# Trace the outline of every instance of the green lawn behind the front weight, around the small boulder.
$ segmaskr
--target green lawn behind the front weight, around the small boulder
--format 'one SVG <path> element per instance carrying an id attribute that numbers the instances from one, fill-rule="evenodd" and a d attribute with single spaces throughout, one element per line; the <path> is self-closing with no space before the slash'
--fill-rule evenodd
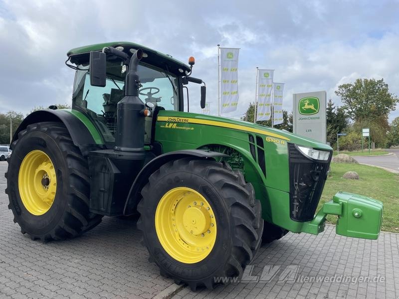
<path id="1" fill-rule="evenodd" d="M 347 171 L 356 171 L 360 179 L 345 179 Z M 331 163 L 330 176 L 321 196 L 322 204 L 332 199 L 338 191 L 349 191 L 373 197 L 384 203 L 383 225 L 381 230 L 399 233 L 399 175 L 384 169 L 349 163 Z M 337 216 L 328 215 L 327 221 L 335 224 Z"/>

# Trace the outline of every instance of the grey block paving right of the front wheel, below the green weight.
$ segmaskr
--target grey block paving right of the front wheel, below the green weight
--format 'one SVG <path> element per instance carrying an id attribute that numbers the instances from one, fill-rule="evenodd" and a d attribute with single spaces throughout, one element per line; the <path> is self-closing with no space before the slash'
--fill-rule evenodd
<path id="1" fill-rule="evenodd" d="M 235 283 L 218 286 L 213 291 L 191 292 L 185 288 L 173 299 L 334 299 L 399 298 L 399 235 L 381 233 L 378 240 L 346 238 L 335 234 L 334 226 L 318 236 L 288 233 L 259 250 L 251 276 L 261 277 L 264 266 L 281 266 L 268 283 Z M 296 281 L 278 282 L 283 270 L 298 269 Z M 294 271 L 292 272 L 294 273 Z M 318 278 L 342 279 L 348 282 L 316 282 Z M 356 282 L 359 277 L 380 276 L 380 282 Z M 306 282 L 314 277 L 314 281 Z M 345 278 L 346 277 L 346 278 Z M 289 278 L 289 277 L 288 277 Z M 361 279 L 361 278 L 360 278 Z"/>

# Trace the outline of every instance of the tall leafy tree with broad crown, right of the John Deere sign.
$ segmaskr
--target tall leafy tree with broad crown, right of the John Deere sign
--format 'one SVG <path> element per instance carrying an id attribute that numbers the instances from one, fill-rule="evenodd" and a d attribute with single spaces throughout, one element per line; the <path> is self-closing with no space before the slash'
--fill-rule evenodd
<path id="1" fill-rule="evenodd" d="M 353 84 L 340 85 L 335 94 L 341 98 L 349 117 L 362 128 L 364 121 L 388 116 L 399 101 L 397 96 L 389 92 L 384 79 L 357 79 Z"/>

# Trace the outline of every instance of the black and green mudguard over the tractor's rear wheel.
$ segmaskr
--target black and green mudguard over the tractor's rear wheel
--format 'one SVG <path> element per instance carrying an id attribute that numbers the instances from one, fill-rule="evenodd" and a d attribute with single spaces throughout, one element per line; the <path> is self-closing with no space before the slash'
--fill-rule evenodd
<path id="1" fill-rule="evenodd" d="M 39 122 L 60 122 L 65 125 L 72 138 L 73 144 L 81 150 L 83 155 L 87 155 L 88 151 L 93 147 L 103 145 L 101 135 L 90 122 L 90 120 L 82 113 L 70 109 L 57 110 L 38 110 L 29 114 L 19 125 L 15 131 L 12 143 L 18 139 L 18 133 L 25 130 L 27 126 Z M 101 146 L 100 146 L 101 147 Z"/>

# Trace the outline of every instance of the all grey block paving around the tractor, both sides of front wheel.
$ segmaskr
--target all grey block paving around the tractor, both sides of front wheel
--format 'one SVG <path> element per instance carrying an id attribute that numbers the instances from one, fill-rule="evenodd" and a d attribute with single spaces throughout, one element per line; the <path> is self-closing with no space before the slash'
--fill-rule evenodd
<path id="1" fill-rule="evenodd" d="M 134 221 L 105 217 L 81 237 L 47 244 L 22 235 L 7 209 L 5 168 L 6 162 L 0 162 L 0 299 L 153 298 L 173 285 L 148 262 Z M 252 262 L 250 275 L 255 279 L 264 266 L 280 266 L 270 282 L 233 283 L 197 292 L 186 287 L 173 298 L 399 298 L 398 243 L 398 234 L 362 240 L 338 236 L 333 226 L 318 236 L 289 233 L 262 247 Z M 287 269 L 298 269 L 297 281 L 278 282 Z M 380 281 L 306 282 L 343 275 L 371 280 L 379 276 Z"/>

